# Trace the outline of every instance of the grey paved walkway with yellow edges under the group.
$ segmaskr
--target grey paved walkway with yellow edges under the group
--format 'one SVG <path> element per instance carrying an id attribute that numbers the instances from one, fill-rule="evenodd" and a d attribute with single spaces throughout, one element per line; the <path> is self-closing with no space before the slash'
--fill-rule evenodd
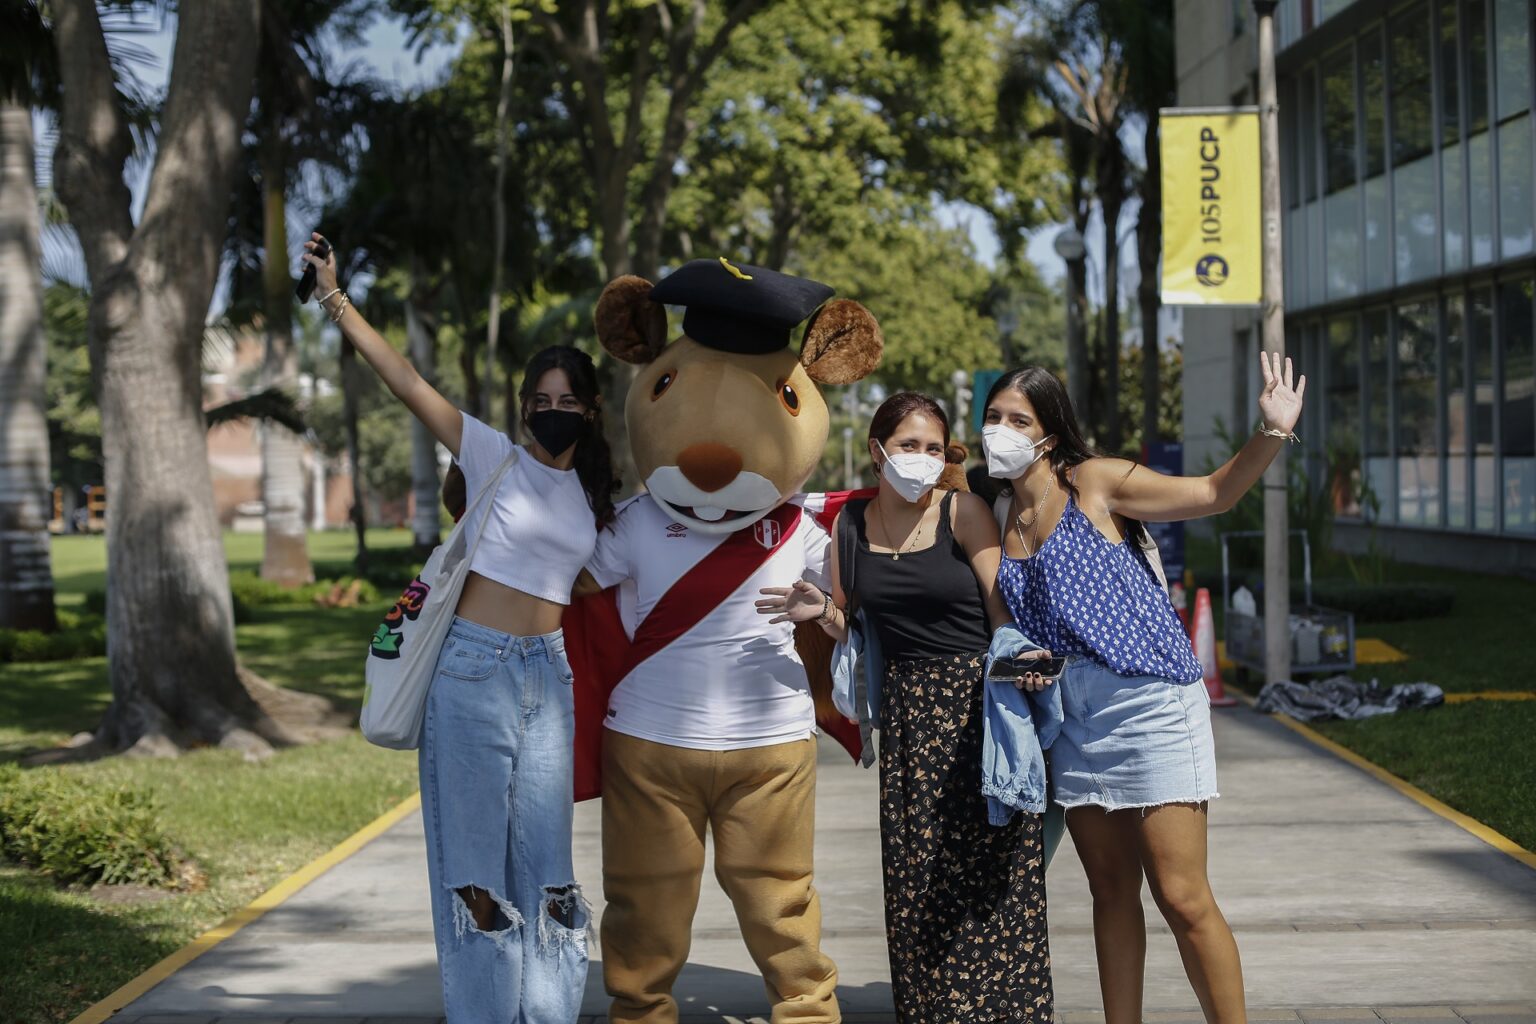
<path id="1" fill-rule="evenodd" d="M 1433 712 L 1432 712 L 1433 714 Z M 1217 714 L 1224 797 L 1210 875 L 1243 950 L 1255 1021 L 1536 1024 L 1536 870 L 1246 708 Z M 601 913 L 598 808 L 576 872 Z M 766 1013 L 730 904 L 705 875 L 687 1021 Z M 1087 886 L 1064 843 L 1048 875 L 1057 1006 L 1100 1021 Z M 849 1024 L 891 1019 L 874 772 L 823 745 L 817 886 Z M 1147 903 L 1149 1021 L 1198 1009 Z M 602 1021 L 594 953 L 584 1021 Z M 438 1021 L 421 817 L 404 818 L 281 907 L 112 1018 L 114 1024 Z"/>

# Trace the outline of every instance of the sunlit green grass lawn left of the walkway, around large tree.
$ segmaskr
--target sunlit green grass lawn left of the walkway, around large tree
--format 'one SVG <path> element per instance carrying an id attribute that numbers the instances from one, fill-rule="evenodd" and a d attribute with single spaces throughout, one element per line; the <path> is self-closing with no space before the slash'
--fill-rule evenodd
<path id="1" fill-rule="evenodd" d="M 370 531 L 370 548 L 402 548 L 406 531 Z M 226 537 L 230 568 L 257 568 L 261 537 Z M 350 533 L 310 536 L 310 556 L 339 571 Z M 74 606 L 104 585 L 101 537 L 57 537 L 58 603 Z M 407 580 L 401 580 L 404 585 Z M 362 657 L 384 613 L 375 608 L 258 608 L 237 629 L 244 662 L 269 680 L 356 709 Z M 0 761 L 95 726 L 109 700 L 104 659 L 0 668 Z M 416 789 L 415 754 L 361 735 L 278 751 L 249 765 L 201 749 L 177 760 L 109 758 L 43 768 L 126 783 L 160 801 L 166 832 L 207 872 L 203 892 L 152 903 L 103 903 L 0 867 L 0 1024 L 68 1021 L 147 966 L 184 946 Z"/>

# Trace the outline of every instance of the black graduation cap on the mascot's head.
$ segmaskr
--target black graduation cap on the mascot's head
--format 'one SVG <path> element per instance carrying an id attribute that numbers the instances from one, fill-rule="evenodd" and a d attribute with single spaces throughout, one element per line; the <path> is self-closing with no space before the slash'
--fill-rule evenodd
<path id="1" fill-rule="evenodd" d="M 700 345 L 740 355 L 788 347 L 796 324 L 833 298 L 820 281 L 719 259 L 690 259 L 651 289 L 651 301 L 685 307 L 682 330 Z"/>

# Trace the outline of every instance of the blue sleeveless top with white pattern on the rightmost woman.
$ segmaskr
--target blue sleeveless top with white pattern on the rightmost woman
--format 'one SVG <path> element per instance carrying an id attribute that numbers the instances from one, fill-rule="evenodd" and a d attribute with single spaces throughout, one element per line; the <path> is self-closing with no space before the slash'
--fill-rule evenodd
<path id="1" fill-rule="evenodd" d="M 1003 556 L 997 585 L 1018 628 L 1052 654 L 1086 656 L 1118 676 L 1201 679 L 1189 636 L 1141 550 L 1111 543 L 1072 496 L 1034 557 Z"/>

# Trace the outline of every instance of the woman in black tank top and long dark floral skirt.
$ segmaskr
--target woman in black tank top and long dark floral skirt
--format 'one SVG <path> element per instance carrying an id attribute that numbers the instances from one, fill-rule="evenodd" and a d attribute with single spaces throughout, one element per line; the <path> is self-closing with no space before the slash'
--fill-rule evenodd
<path id="1" fill-rule="evenodd" d="M 965 448 L 951 448 L 931 398 L 891 396 L 869 425 L 869 454 L 880 490 L 833 528 L 834 593 L 805 585 L 783 611 L 843 639 L 857 608 L 880 640 L 880 860 L 897 1019 L 1051 1021 L 1041 815 L 994 827 L 982 795 L 983 659 L 1011 620 L 997 520 L 968 491 L 934 490 Z"/>

